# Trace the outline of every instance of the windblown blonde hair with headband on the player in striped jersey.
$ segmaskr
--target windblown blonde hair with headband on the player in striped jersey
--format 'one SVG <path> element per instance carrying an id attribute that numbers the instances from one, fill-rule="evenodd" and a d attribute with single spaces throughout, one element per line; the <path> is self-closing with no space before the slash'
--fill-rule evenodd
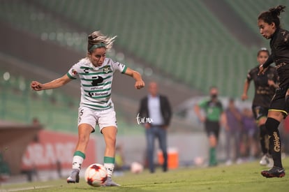
<path id="1" fill-rule="evenodd" d="M 94 31 L 88 36 L 87 51 L 92 52 L 98 47 L 105 47 L 106 50 L 110 51 L 117 36 L 105 36 L 101 34 L 101 31 Z"/>

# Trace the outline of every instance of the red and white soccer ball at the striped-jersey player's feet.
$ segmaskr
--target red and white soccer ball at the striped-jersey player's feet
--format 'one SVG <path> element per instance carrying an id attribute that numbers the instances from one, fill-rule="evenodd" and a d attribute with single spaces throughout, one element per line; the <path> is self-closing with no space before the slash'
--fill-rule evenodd
<path id="1" fill-rule="evenodd" d="M 103 165 L 94 163 L 85 170 L 84 177 L 87 184 L 101 186 L 108 179 L 108 173 Z"/>

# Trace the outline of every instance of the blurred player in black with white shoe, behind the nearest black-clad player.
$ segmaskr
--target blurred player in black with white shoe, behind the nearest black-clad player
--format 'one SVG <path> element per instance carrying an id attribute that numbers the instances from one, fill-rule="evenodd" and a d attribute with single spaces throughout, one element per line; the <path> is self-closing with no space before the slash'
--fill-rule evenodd
<path id="1" fill-rule="evenodd" d="M 252 103 L 252 110 L 255 120 L 260 128 L 260 145 L 262 149 L 262 158 L 260 160 L 260 165 L 272 166 L 272 156 L 269 152 L 269 147 L 266 146 L 267 141 L 267 131 L 265 122 L 268 115 L 269 103 L 274 96 L 275 90 L 278 87 L 276 84 L 278 75 L 276 69 L 273 66 L 269 66 L 265 74 L 258 75 L 259 66 L 263 64 L 269 57 L 269 51 L 266 48 L 262 48 L 258 51 L 257 61 L 258 66 L 252 68 L 247 74 L 246 82 L 244 83 L 244 91 L 242 94 L 242 100 L 248 98 L 248 89 L 251 80 L 253 80 L 255 85 L 255 95 Z"/>

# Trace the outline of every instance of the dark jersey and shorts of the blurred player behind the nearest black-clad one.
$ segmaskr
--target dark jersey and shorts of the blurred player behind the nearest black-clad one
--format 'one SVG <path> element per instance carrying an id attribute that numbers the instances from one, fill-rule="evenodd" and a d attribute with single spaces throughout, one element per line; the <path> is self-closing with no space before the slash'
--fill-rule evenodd
<path id="1" fill-rule="evenodd" d="M 247 74 L 247 80 L 249 82 L 253 80 L 255 85 L 252 110 L 256 120 L 260 119 L 260 117 L 267 117 L 269 103 L 275 94 L 276 88 L 269 86 L 268 80 L 272 80 L 275 83 L 278 80 L 276 69 L 273 66 L 269 66 L 263 75 L 258 75 L 258 72 L 259 66 L 256 66 Z"/>

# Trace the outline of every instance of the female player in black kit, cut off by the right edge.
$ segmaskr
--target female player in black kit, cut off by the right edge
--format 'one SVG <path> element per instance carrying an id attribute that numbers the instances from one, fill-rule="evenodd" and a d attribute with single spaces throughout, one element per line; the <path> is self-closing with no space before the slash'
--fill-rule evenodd
<path id="1" fill-rule="evenodd" d="M 260 34 L 270 39 L 271 54 L 264 64 L 259 66 L 259 74 L 273 62 L 276 64 L 279 75 L 279 88 L 269 105 L 269 112 L 265 126 L 269 135 L 269 149 L 274 161 L 273 168 L 263 170 L 264 177 L 284 177 L 285 170 L 281 162 L 281 140 L 278 126 L 288 115 L 289 107 L 289 31 L 280 26 L 279 15 L 285 6 L 277 6 L 260 13 L 258 16 L 258 27 Z"/>

